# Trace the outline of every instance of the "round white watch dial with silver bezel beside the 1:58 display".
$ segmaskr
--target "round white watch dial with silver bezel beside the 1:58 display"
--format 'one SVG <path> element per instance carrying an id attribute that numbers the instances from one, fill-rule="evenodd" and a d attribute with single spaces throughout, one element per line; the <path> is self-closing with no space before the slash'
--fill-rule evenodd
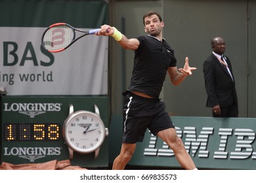
<path id="1" fill-rule="evenodd" d="M 66 143 L 76 152 L 94 152 L 104 141 L 105 126 L 93 112 L 74 112 L 64 122 L 63 127 Z"/>

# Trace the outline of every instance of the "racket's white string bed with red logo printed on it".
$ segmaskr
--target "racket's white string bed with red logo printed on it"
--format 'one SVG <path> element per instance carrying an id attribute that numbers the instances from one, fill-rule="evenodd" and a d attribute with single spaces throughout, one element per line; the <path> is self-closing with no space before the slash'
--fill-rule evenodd
<path id="1" fill-rule="evenodd" d="M 75 39 L 75 31 L 68 25 L 54 25 L 43 37 L 43 46 L 51 51 L 63 50 Z"/>

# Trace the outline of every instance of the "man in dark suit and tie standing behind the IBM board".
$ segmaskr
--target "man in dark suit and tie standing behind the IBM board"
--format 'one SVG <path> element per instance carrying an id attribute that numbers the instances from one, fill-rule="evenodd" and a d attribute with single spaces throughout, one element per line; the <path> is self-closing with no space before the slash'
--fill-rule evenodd
<path id="1" fill-rule="evenodd" d="M 213 52 L 203 63 L 206 107 L 213 117 L 238 117 L 238 97 L 230 59 L 224 56 L 225 42 L 221 37 L 211 39 Z"/>

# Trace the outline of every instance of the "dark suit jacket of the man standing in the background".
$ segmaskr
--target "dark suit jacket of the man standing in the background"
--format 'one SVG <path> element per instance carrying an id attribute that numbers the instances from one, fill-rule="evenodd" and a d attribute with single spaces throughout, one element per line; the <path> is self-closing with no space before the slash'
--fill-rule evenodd
<path id="1" fill-rule="evenodd" d="M 230 59 L 224 56 L 228 63 L 228 68 L 234 79 Z M 207 92 L 206 107 L 220 105 L 227 107 L 234 102 L 238 103 L 236 95 L 235 81 L 232 80 L 225 66 L 220 63 L 219 59 L 211 54 L 203 63 L 203 74 L 205 79 L 205 90 Z"/>

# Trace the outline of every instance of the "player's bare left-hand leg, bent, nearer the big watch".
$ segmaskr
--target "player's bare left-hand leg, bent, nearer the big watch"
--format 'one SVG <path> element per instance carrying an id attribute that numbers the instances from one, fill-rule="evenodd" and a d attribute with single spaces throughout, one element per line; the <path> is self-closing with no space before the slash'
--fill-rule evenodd
<path id="1" fill-rule="evenodd" d="M 113 170 L 123 170 L 125 169 L 125 165 L 131 160 L 133 157 L 133 153 L 135 152 L 136 144 L 126 144 L 122 143 L 121 152 L 119 156 L 116 157 L 113 163 Z"/>

